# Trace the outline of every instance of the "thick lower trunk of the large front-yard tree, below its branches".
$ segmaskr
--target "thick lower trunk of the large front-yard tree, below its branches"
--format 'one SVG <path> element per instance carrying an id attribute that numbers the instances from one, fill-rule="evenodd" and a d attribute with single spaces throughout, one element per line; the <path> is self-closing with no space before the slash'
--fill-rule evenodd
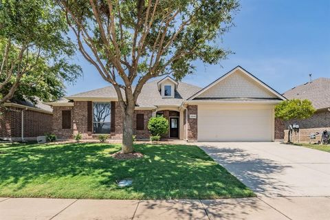
<path id="1" fill-rule="evenodd" d="M 122 113 L 122 152 L 131 153 L 133 148 L 133 115 L 134 106 L 127 107 Z"/>

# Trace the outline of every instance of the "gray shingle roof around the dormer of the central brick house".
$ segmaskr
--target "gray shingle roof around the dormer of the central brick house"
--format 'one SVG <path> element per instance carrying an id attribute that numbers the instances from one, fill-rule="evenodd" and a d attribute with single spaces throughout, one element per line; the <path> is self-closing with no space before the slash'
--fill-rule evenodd
<path id="1" fill-rule="evenodd" d="M 195 85 L 190 85 L 187 83 L 179 83 L 177 86 L 177 91 L 175 91 L 174 98 L 162 98 L 160 92 L 157 88 L 158 80 L 146 83 L 142 88 L 139 98 L 137 98 L 137 106 L 139 107 L 155 107 L 161 105 L 175 105 L 179 106 L 181 103 L 189 98 L 192 94 L 195 94 L 201 89 Z M 133 88 L 134 89 L 134 88 Z M 74 98 L 117 98 L 115 89 L 112 86 L 104 87 L 100 89 L 94 89 L 91 91 L 86 91 L 80 94 L 75 94 L 72 96 L 67 96 L 68 99 Z"/>

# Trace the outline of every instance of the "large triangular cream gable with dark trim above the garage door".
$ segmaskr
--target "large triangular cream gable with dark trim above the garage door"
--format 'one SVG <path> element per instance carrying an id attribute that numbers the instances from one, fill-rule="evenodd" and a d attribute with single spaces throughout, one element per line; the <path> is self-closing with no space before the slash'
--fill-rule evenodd
<path id="1" fill-rule="evenodd" d="M 263 83 L 261 80 L 238 66 L 227 74 L 221 76 L 213 83 L 201 89 L 197 94 L 188 98 L 193 99 L 214 98 L 259 98 L 281 99 L 281 94 Z"/>

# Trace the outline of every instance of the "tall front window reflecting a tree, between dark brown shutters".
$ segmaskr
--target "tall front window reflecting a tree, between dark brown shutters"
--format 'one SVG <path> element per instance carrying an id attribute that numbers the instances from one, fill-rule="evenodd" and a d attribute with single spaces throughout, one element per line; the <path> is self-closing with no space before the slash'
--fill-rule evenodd
<path id="1" fill-rule="evenodd" d="M 109 102 L 94 102 L 93 131 L 94 133 L 110 133 L 111 107 Z"/>

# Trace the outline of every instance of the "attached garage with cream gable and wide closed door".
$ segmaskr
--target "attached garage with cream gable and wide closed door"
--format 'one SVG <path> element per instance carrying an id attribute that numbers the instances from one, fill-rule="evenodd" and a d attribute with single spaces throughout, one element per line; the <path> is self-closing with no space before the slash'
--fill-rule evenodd
<path id="1" fill-rule="evenodd" d="M 274 108 L 283 100 L 277 91 L 236 67 L 188 98 L 186 104 L 197 106 L 197 120 L 189 118 L 188 111 L 187 133 L 197 127 L 199 142 L 274 141 Z"/>

